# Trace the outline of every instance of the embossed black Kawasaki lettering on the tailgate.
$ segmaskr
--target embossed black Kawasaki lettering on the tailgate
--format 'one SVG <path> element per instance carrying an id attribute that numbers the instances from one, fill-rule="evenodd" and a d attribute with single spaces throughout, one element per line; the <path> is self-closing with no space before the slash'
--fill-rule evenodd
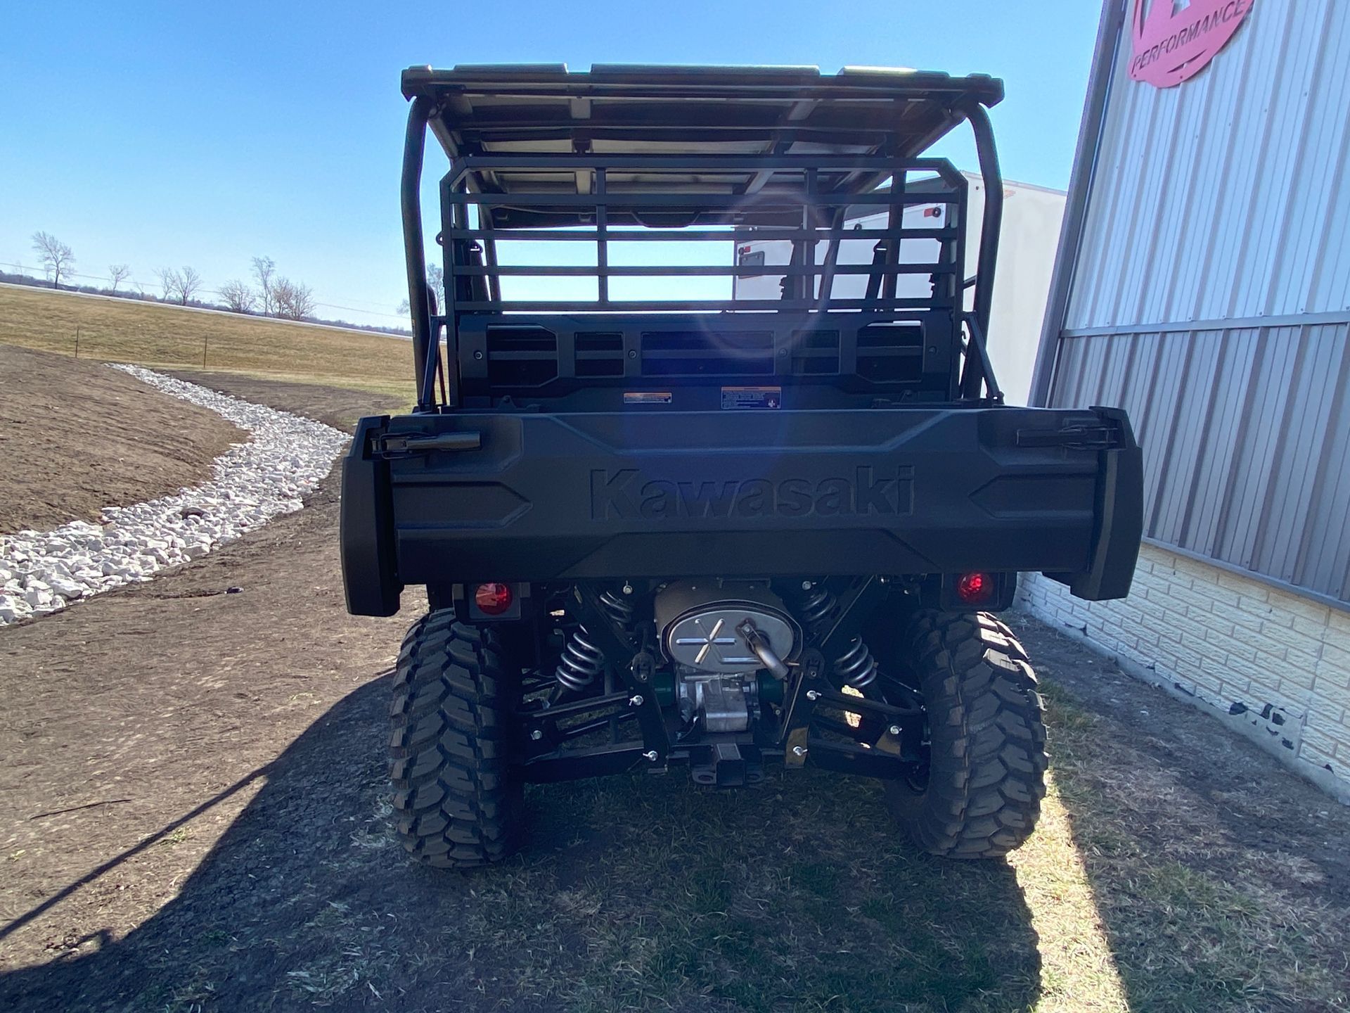
<path id="1" fill-rule="evenodd" d="M 852 477 L 676 482 L 636 467 L 591 471 L 591 519 L 898 516 L 914 511 L 914 469 L 857 467 Z"/>

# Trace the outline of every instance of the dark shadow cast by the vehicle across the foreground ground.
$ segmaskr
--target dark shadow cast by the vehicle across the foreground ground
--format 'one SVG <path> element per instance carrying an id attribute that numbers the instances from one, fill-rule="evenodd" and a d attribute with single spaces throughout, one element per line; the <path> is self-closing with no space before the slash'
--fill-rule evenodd
<path id="1" fill-rule="evenodd" d="M 28 1009 L 1022 1009 L 1014 870 L 900 843 L 868 782 L 680 774 L 532 793 L 524 855 L 412 864 L 383 801 L 387 678 L 332 706 L 120 940 L 0 978 Z M 112 870 L 109 870 L 111 873 Z"/>

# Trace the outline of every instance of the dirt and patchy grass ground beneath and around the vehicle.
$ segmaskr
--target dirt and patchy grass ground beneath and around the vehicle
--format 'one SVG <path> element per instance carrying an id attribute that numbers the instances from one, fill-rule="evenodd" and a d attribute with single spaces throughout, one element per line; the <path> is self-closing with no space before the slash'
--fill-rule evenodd
<path id="1" fill-rule="evenodd" d="M 420 602 L 346 615 L 333 478 L 0 631 L 0 1009 L 1350 1009 L 1350 810 L 1029 619 L 1053 789 L 1008 862 L 917 854 L 875 783 L 806 773 L 545 786 L 524 854 L 413 866 L 383 751 Z"/>

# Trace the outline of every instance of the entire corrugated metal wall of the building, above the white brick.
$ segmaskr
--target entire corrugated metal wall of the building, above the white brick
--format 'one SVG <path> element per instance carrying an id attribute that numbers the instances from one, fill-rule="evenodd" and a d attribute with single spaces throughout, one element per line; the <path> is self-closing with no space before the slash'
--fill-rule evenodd
<path id="1" fill-rule="evenodd" d="M 1350 601 L 1350 3 L 1168 89 L 1123 14 L 1049 404 L 1129 408 L 1146 536 Z"/>

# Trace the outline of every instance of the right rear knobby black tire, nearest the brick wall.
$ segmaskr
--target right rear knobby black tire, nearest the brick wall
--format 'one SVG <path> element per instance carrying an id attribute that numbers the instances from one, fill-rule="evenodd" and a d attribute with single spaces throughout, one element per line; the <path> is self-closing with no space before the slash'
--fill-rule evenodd
<path id="1" fill-rule="evenodd" d="M 999 858 L 1035 829 L 1045 797 L 1045 723 L 1026 651 L 987 612 L 919 612 L 900 638 L 923 694 L 926 785 L 887 782 L 910 837 L 945 858 Z"/>

